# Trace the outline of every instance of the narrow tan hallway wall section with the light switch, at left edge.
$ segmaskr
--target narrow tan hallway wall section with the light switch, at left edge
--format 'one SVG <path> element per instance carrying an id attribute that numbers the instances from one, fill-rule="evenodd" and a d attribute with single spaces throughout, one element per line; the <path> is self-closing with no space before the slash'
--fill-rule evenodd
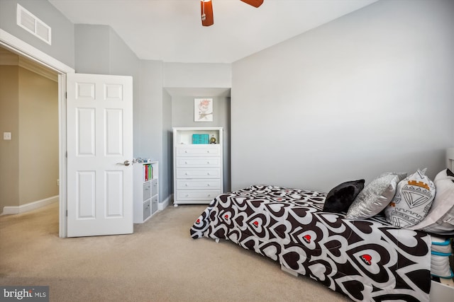
<path id="1" fill-rule="evenodd" d="M 19 204 L 18 66 L 0 65 L 0 213 Z M 11 132 L 11 141 L 4 141 Z"/>

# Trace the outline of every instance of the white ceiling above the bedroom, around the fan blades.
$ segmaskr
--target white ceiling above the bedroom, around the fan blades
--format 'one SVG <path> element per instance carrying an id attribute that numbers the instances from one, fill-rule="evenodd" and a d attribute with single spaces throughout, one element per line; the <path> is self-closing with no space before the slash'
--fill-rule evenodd
<path id="1" fill-rule="evenodd" d="M 110 25 L 139 59 L 232 63 L 377 0 L 213 0 L 201 25 L 199 0 L 49 0 L 74 24 Z"/>

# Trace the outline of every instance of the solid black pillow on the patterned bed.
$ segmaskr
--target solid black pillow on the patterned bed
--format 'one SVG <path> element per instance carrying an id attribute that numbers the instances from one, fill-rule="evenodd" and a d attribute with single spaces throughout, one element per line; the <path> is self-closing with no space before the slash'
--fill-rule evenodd
<path id="1" fill-rule="evenodd" d="M 365 180 L 351 180 L 333 187 L 326 195 L 323 211 L 341 213 L 347 211 L 355 197 L 364 188 Z"/>

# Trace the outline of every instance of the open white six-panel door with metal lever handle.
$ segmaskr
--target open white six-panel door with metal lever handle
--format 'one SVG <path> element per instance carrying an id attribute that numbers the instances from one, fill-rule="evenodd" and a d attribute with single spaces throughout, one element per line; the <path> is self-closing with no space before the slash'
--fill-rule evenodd
<path id="1" fill-rule="evenodd" d="M 68 237 L 133 233 L 132 159 L 131 76 L 67 74 Z"/>

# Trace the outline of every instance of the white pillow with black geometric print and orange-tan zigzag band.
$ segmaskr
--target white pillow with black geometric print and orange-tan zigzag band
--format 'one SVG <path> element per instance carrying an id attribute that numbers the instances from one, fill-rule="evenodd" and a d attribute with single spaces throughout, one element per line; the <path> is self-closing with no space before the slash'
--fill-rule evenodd
<path id="1" fill-rule="evenodd" d="M 417 170 L 397 185 L 396 195 L 384 210 L 386 220 L 393 226 L 408 228 L 427 216 L 436 188 L 424 175 L 426 170 Z"/>

